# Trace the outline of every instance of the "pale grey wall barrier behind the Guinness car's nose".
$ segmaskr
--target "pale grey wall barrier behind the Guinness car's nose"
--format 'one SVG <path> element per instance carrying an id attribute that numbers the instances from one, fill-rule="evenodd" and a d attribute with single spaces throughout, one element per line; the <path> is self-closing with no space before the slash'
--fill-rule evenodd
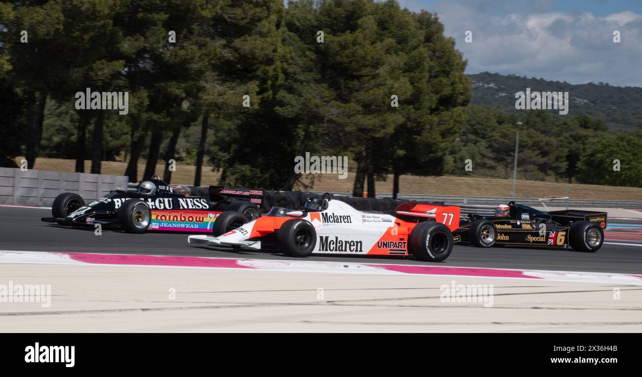
<path id="1" fill-rule="evenodd" d="M 85 202 L 113 189 L 127 189 L 128 177 L 0 168 L 0 204 L 49 207 L 60 193 L 76 193 Z"/>

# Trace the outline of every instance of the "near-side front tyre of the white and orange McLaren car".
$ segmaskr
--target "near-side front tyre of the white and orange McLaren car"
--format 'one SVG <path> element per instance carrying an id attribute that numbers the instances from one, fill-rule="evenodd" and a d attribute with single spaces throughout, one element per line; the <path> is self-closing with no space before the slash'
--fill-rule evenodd
<path id="1" fill-rule="evenodd" d="M 308 220 L 293 218 L 281 225 L 277 245 L 287 256 L 308 256 L 317 245 L 317 231 Z"/>

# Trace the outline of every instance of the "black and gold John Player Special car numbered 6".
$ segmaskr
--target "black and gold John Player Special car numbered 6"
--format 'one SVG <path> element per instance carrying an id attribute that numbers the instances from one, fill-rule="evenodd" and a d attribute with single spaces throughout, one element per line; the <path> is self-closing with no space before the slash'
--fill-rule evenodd
<path id="1" fill-rule="evenodd" d="M 478 247 L 510 245 L 554 247 L 594 252 L 604 241 L 607 213 L 577 211 L 542 212 L 533 207 L 509 202 L 499 206 L 495 215 L 469 214 L 462 218 L 455 238 Z"/>

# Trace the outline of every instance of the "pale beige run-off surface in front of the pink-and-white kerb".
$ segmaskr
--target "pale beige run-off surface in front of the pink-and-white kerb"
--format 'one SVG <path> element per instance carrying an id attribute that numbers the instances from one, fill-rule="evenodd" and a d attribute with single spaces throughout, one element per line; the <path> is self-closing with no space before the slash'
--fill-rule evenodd
<path id="1" fill-rule="evenodd" d="M 51 285 L 51 306 L 0 302 L 0 332 L 642 331 L 642 286 L 612 283 L 2 264 L 10 284 Z M 440 299 L 480 284 L 492 307 Z"/>

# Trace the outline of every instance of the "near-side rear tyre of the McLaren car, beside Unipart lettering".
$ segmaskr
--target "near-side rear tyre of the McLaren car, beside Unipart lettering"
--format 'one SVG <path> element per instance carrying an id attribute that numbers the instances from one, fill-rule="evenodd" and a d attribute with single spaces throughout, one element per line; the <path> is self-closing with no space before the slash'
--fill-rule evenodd
<path id="1" fill-rule="evenodd" d="M 417 224 L 410 232 L 408 241 L 408 251 L 422 261 L 440 262 L 453 251 L 453 233 L 438 222 Z"/>

